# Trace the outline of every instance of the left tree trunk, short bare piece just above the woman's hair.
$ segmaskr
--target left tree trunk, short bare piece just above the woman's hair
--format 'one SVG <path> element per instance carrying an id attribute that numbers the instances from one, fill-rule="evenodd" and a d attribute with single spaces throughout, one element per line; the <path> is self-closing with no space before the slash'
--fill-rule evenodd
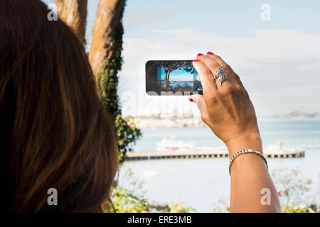
<path id="1" fill-rule="evenodd" d="M 75 35 L 85 43 L 87 0 L 55 0 L 55 4 L 60 18 L 73 28 Z"/>

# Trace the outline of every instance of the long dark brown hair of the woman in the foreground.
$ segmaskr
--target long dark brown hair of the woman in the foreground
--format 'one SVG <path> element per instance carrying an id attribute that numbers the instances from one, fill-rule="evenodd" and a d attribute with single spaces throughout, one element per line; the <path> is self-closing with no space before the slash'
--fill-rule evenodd
<path id="1" fill-rule="evenodd" d="M 119 162 L 114 129 L 84 46 L 48 12 L 40 0 L 0 1 L 1 209 L 102 211 Z"/>

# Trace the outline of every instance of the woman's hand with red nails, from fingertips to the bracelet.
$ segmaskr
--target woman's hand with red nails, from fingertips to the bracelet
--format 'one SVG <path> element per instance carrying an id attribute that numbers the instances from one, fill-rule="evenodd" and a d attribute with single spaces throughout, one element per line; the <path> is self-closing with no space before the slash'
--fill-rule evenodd
<path id="1" fill-rule="evenodd" d="M 218 78 L 213 79 L 220 65 L 227 74 L 221 86 Z M 255 109 L 238 74 L 211 52 L 198 54 L 193 67 L 201 79 L 203 95 L 190 96 L 189 100 L 196 102 L 201 119 L 228 146 L 230 155 L 247 148 L 262 152 Z"/>

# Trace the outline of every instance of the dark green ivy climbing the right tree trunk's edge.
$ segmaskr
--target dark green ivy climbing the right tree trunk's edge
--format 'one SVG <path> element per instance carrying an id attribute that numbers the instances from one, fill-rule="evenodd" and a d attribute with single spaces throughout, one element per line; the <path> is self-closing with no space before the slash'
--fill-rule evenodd
<path id="1" fill-rule="evenodd" d="M 124 161 L 125 153 L 132 150 L 134 143 L 142 136 L 141 131 L 136 128 L 132 117 L 124 118 L 121 113 L 117 86 L 119 79 L 117 73 L 122 66 L 122 22 L 119 23 L 112 41 L 112 55 L 105 59 L 102 73 L 97 76 L 97 89 L 105 109 L 114 120 L 114 128 L 117 135 L 119 159 Z"/>

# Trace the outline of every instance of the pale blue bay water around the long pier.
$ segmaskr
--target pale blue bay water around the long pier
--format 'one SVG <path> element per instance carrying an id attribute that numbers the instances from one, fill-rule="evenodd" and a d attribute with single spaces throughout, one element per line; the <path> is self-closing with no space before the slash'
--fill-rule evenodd
<path id="1" fill-rule="evenodd" d="M 269 159 L 270 171 L 298 169 L 312 180 L 312 190 L 319 192 L 320 119 L 262 120 L 259 126 L 264 146 L 282 140 L 284 147 L 306 150 L 302 158 Z M 137 152 L 156 150 L 156 143 L 164 137 L 193 142 L 194 148 L 225 148 L 207 127 L 144 129 L 142 133 L 142 140 L 135 146 Z M 132 169 L 136 179 L 144 181 L 144 196 L 150 201 L 171 204 L 182 199 L 196 211 L 210 212 L 213 202 L 228 201 L 230 195 L 228 158 L 128 161 L 124 166 Z M 122 171 L 120 182 L 121 174 Z M 310 199 L 319 204 L 318 193 Z"/>

